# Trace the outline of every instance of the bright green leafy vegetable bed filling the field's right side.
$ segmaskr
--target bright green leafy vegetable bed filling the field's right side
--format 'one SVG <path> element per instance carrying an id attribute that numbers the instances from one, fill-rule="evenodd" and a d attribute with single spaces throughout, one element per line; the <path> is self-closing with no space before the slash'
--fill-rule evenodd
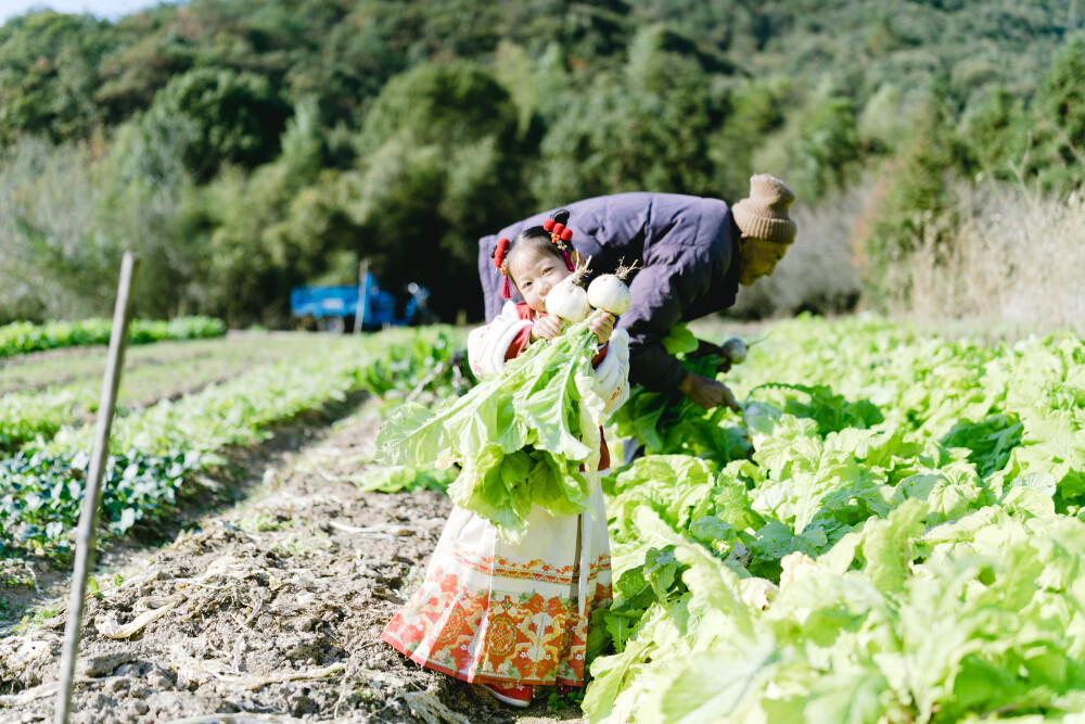
<path id="1" fill-rule="evenodd" d="M 1078 721 L 1085 343 L 805 318 L 724 379 L 616 421 L 588 721 Z"/>

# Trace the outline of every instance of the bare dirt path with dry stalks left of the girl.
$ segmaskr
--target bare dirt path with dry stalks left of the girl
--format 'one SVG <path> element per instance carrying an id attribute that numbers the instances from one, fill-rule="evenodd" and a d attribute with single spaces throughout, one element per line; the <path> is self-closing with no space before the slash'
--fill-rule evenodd
<path id="1" fill-rule="evenodd" d="M 511 710 L 379 642 L 450 507 L 347 480 L 379 424 L 363 409 L 277 456 L 246 500 L 168 546 L 107 556 L 118 575 L 99 576 L 88 601 L 72 721 L 576 720 L 569 699 L 552 708 L 541 693 Z M 51 720 L 65 621 L 51 593 L 42 608 L 56 615 L 0 638 L 0 722 Z"/>

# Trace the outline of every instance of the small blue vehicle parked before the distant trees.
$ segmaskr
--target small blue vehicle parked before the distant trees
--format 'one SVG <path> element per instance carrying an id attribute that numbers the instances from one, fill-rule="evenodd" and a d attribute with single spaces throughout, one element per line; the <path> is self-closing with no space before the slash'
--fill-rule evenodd
<path id="1" fill-rule="evenodd" d="M 361 318 L 361 328 L 365 330 L 381 329 L 388 325 L 425 325 L 435 321 L 426 306 L 430 290 L 414 282 L 407 285 L 410 297 L 404 305 L 401 317 L 396 316 L 395 295 L 382 290 L 373 275 L 366 275 L 365 290 L 368 299 Z M 295 287 L 290 292 L 290 314 L 302 329 L 342 334 L 354 329 L 358 314 L 358 284 Z"/>

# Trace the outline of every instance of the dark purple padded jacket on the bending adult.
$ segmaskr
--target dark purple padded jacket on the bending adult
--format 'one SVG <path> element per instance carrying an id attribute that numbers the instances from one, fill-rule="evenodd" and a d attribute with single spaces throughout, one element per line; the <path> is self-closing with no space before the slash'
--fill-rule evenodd
<path id="1" fill-rule="evenodd" d="M 596 274 L 613 271 L 618 259 L 644 268 L 629 283 L 633 304 L 618 327 L 629 332 L 629 380 L 649 390 L 674 390 L 686 370 L 662 340 L 681 321 L 726 309 L 738 293 L 731 264 L 738 227 L 727 204 L 675 193 L 617 193 L 565 206 L 573 246 L 591 257 Z M 501 272 L 490 252 L 501 237 L 513 239 L 539 226 L 552 211 L 536 214 L 478 240 L 478 275 L 486 297 L 486 320 L 501 312 Z M 512 287 L 515 302 L 522 299 Z"/>

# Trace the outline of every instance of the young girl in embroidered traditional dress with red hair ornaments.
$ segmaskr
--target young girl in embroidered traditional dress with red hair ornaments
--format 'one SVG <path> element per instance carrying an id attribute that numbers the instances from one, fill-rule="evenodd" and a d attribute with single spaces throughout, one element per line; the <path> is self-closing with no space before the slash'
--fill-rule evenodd
<path id="1" fill-rule="evenodd" d="M 494 250 L 495 266 L 525 302 L 506 302 L 499 317 L 468 338 L 471 369 L 499 373 L 527 345 L 561 333 L 546 296 L 573 270 L 576 252 L 564 228 L 569 212 L 525 229 Z M 604 315 L 590 331 L 596 390 L 607 411 L 626 397 L 628 335 Z M 610 465 L 605 441 L 600 470 Z M 610 604 L 610 543 L 598 484 L 589 510 L 556 517 L 535 506 L 519 543 L 503 541 L 486 519 L 456 507 L 437 542 L 425 580 L 381 638 L 411 661 L 485 687 L 498 700 L 526 707 L 533 686 L 582 686 L 588 619 Z"/>

